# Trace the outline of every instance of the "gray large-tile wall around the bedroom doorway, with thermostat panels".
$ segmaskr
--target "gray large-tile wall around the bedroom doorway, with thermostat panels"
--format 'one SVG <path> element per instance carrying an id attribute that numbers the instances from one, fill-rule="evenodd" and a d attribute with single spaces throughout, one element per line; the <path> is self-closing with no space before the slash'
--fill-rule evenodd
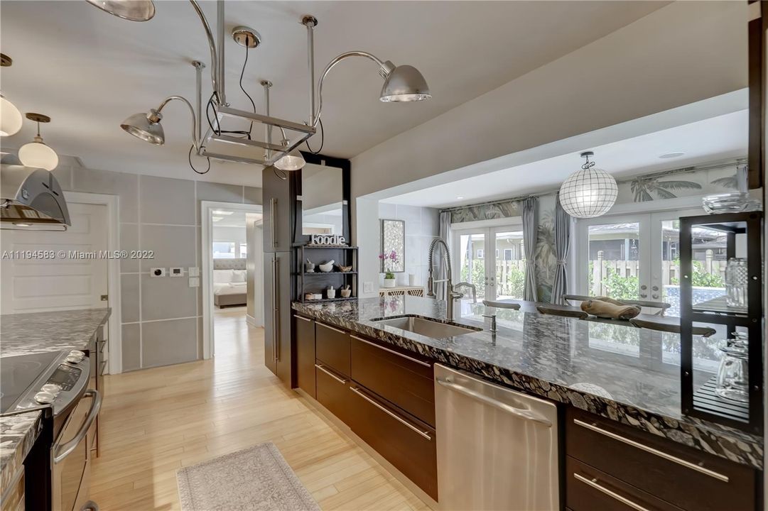
<path id="1" fill-rule="evenodd" d="M 120 197 L 120 248 L 153 260 L 121 261 L 123 371 L 202 357 L 202 289 L 187 278 L 153 279 L 149 269 L 201 264 L 200 201 L 261 204 L 261 189 L 60 165 L 64 190 Z"/>

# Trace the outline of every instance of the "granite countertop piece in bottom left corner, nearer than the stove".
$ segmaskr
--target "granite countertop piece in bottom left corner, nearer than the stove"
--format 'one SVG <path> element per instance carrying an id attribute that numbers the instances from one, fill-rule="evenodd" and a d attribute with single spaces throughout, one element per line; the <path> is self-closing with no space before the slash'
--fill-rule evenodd
<path id="1" fill-rule="evenodd" d="M 40 433 L 41 412 L 0 417 L 0 494 L 12 483 Z"/>

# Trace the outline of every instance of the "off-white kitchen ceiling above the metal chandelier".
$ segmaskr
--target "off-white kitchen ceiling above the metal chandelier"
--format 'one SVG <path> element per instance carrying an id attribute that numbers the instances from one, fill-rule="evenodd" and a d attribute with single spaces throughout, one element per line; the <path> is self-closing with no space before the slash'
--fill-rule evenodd
<path id="1" fill-rule="evenodd" d="M 214 2 L 201 2 L 215 26 Z M 260 31 L 243 84 L 262 110 L 261 78 L 274 83 L 272 114 L 308 117 L 306 34 L 301 15 L 319 18 L 316 67 L 342 51 L 371 51 L 418 67 L 432 100 L 382 104 L 381 79 L 362 59 L 346 61 L 326 81 L 323 153 L 353 157 L 404 130 L 574 51 L 667 2 L 227 2 L 227 32 Z M 43 128 L 58 153 L 86 166 L 187 176 L 190 117 L 170 104 L 163 121 L 166 146 L 124 134 L 119 124 L 170 94 L 194 98 L 189 62 L 209 61 L 200 22 L 187 2 L 156 2 L 151 21 L 124 21 L 86 2 L 3 2 L 0 45 L 14 59 L 2 71 L 2 91 L 22 112 L 52 117 Z M 250 106 L 237 87 L 244 49 L 227 38 L 227 98 Z M 205 71 L 210 71 L 210 68 Z M 204 91 L 210 94 L 208 74 Z M 3 140 L 19 147 L 34 126 Z M 319 144 L 313 139 L 313 146 Z M 253 166 L 214 163 L 203 179 L 258 184 Z"/>

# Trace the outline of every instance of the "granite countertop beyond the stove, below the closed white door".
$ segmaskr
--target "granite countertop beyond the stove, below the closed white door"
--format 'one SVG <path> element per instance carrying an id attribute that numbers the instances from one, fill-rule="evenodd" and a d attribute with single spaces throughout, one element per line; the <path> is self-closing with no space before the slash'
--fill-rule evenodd
<path id="1" fill-rule="evenodd" d="M 0 315 L 0 357 L 88 349 L 110 308 Z"/>

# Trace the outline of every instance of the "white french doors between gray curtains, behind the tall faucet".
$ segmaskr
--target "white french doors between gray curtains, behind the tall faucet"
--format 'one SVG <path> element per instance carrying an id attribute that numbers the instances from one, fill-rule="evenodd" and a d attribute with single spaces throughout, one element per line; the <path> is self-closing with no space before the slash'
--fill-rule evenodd
<path id="1" fill-rule="evenodd" d="M 523 297 L 525 247 L 521 224 L 452 231 L 454 283 L 469 282 L 480 300 Z M 471 300 L 468 292 L 462 302 Z"/>

